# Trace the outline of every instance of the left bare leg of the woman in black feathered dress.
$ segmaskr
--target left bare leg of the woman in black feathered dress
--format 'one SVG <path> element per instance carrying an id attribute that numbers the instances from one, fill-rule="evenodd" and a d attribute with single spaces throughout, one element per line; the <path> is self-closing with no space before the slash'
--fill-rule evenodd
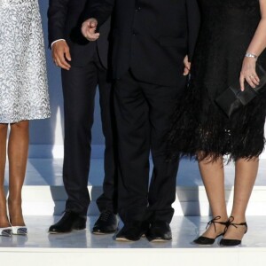
<path id="1" fill-rule="evenodd" d="M 211 207 L 213 217 L 221 216 L 216 222 L 226 222 L 227 212 L 224 194 L 224 171 L 223 158 L 221 157 L 215 162 L 210 159 L 201 160 L 199 162 L 200 174 L 202 177 L 205 190 L 207 192 L 207 199 Z M 216 228 L 216 231 L 215 231 Z M 212 223 L 207 231 L 202 235 L 210 239 L 215 239 L 217 235 L 223 233 L 225 226 L 223 224 Z"/>

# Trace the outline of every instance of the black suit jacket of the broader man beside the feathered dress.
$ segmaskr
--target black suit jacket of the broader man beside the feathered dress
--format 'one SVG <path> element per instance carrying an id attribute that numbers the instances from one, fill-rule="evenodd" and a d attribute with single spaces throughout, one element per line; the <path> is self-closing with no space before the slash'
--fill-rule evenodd
<path id="1" fill-rule="evenodd" d="M 197 40 L 197 0 L 90 0 L 85 17 L 102 25 L 113 9 L 113 77 L 130 68 L 140 81 L 178 85 Z"/>

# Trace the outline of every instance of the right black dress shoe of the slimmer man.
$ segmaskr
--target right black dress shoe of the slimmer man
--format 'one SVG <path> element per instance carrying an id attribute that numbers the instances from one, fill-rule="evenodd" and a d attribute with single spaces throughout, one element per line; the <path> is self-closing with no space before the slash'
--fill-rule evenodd
<path id="1" fill-rule="evenodd" d="M 92 233 L 96 235 L 110 234 L 117 230 L 117 216 L 110 211 L 102 212 L 92 228 Z"/>

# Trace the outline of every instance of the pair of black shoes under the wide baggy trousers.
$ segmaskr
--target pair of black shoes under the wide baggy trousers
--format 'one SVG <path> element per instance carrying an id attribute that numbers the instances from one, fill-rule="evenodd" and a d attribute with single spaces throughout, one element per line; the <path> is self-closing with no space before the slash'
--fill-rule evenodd
<path id="1" fill-rule="evenodd" d="M 156 221 L 153 223 L 129 223 L 115 237 L 117 241 L 137 241 L 146 237 L 150 242 L 164 242 L 172 239 L 169 223 Z"/>

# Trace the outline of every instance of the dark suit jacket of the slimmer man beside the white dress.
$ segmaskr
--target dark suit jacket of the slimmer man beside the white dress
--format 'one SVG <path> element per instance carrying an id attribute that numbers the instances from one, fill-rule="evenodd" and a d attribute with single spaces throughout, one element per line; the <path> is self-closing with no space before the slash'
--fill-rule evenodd
<path id="1" fill-rule="evenodd" d="M 81 33 L 87 0 L 50 0 L 48 9 L 49 44 L 65 39 L 69 45 L 73 66 L 86 66 L 95 50 L 102 64 L 107 67 L 110 18 L 100 27 L 101 38 L 90 43 Z M 107 19 L 107 18 L 106 18 Z"/>

